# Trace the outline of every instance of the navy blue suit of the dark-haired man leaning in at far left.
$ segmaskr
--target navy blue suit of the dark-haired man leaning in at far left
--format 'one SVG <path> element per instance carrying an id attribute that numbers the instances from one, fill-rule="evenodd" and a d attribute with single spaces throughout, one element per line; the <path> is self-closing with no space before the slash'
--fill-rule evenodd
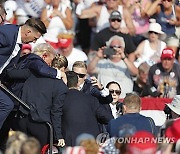
<path id="1" fill-rule="evenodd" d="M 18 31 L 19 26 L 17 25 L 0 26 L 0 68 L 5 64 L 5 62 L 9 59 L 12 52 L 14 51 L 17 42 Z M 11 68 L 13 65 L 15 65 L 19 59 L 19 56 L 20 51 L 0 74 L 1 80 L 4 72 L 6 72 L 6 69 Z M 5 119 L 7 118 L 13 107 L 13 101 L 0 89 L 0 128 L 2 127 Z"/>

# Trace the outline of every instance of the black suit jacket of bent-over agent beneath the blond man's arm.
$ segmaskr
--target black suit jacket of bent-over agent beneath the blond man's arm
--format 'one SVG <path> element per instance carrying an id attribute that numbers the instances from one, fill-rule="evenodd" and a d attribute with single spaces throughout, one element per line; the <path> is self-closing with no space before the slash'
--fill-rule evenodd
<path id="1" fill-rule="evenodd" d="M 30 105 L 32 119 L 52 123 L 55 139 L 62 138 L 61 115 L 67 91 L 68 88 L 62 80 L 35 74 L 24 83 L 22 100 Z"/>

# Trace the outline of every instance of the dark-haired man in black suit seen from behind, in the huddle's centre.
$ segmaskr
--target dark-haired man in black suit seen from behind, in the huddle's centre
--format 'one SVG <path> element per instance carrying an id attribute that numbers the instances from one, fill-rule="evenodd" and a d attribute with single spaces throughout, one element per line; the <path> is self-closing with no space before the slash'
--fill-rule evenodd
<path id="1" fill-rule="evenodd" d="M 63 105 L 62 134 L 67 146 L 74 146 L 76 137 L 89 133 L 96 137 L 98 122 L 107 124 L 113 116 L 106 112 L 96 97 L 77 90 L 78 77 L 73 71 L 66 73 L 69 91 Z"/>

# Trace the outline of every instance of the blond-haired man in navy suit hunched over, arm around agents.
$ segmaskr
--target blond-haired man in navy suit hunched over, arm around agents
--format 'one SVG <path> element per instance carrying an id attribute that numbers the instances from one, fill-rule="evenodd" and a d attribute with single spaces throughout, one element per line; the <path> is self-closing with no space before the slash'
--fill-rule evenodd
<path id="1" fill-rule="evenodd" d="M 16 94 L 16 96 L 21 97 L 21 89 L 26 80 L 26 77 L 22 77 L 20 73 L 17 73 L 15 76 L 14 70 L 21 71 L 21 69 L 28 68 L 41 76 L 61 79 L 65 73 L 50 67 L 54 56 L 55 50 L 49 44 L 40 43 L 34 48 L 33 53 L 20 57 L 16 69 L 7 70 L 9 80 L 12 81 L 12 84 L 9 84 L 11 91 Z"/>

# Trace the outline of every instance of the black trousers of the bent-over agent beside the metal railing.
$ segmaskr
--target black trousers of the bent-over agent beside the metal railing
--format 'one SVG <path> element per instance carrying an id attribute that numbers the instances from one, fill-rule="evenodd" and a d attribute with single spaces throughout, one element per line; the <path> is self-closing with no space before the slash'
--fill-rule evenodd
<path id="1" fill-rule="evenodd" d="M 31 119 L 30 116 L 27 116 L 25 118 L 19 119 L 18 126 L 20 131 L 38 139 L 41 147 L 49 144 L 49 128 L 45 122 L 35 122 Z"/>

